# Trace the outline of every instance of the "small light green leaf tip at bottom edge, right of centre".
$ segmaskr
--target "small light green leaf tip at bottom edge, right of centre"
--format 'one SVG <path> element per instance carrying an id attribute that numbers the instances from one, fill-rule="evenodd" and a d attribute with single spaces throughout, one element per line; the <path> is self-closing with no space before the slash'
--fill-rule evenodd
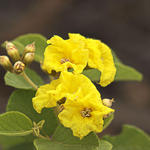
<path id="1" fill-rule="evenodd" d="M 97 150 L 112 150 L 112 144 L 104 140 L 99 140 L 99 148 Z"/>

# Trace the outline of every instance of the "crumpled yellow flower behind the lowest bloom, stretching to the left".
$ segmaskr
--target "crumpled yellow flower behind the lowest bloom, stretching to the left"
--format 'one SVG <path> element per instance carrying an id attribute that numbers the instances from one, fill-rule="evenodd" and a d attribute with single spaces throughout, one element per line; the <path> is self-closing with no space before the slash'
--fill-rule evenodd
<path id="1" fill-rule="evenodd" d="M 79 91 L 80 95 L 78 95 Z M 57 106 L 57 102 L 64 97 L 80 98 L 89 92 L 93 93 L 95 99 L 100 97 L 100 93 L 86 76 L 62 72 L 59 79 L 53 80 L 50 84 L 43 85 L 37 90 L 32 99 L 33 107 L 40 113 L 44 107 Z"/>

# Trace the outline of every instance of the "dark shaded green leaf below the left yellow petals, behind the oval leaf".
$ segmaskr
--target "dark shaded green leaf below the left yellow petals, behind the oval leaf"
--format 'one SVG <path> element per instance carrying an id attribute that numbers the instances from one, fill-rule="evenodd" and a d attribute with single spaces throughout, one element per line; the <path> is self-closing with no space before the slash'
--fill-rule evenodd
<path id="1" fill-rule="evenodd" d="M 15 90 L 9 98 L 7 111 L 22 112 L 36 123 L 45 120 L 42 132 L 51 136 L 57 127 L 57 118 L 53 109 L 44 109 L 41 114 L 38 114 L 32 106 L 34 96 L 35 92 L 32 90 Z"/>

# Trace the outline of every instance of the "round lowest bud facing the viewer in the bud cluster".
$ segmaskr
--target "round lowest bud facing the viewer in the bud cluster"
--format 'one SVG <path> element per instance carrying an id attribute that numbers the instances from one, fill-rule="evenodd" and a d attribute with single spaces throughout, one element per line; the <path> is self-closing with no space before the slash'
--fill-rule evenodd
<path id="1" fill-rule="evenodd" d="M 25 69 L 25 64 L 21 61 L 17 61 L 15 64 L 14 64 L 14 72 L 16 74 L 20 74 L 24 71 Z"/>

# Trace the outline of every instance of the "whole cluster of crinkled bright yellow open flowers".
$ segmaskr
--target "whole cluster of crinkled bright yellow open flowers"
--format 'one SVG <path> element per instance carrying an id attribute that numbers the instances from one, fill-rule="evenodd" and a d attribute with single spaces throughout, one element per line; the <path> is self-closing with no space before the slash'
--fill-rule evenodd
<path id="1" fill-rule="evenodd" d="M 32 102 L 38 113 L 43 108 L 56 107 L 60 122 L 82 139 L 91 131 L 101 132 L 104 118 L 114 110 L 103 104 L 94 84 L 80 73 L 87 65 L 97 68 L 101 71 L 100 84 L 106 86 L 114 80 L 116 69 L 104 43 L 79 34 L 69 37 L 63 40 L 54 36 L 48 40 L 51 45 L 45 50 L 43 69 L 61 73 L 58 79 L 41 86 Z M 68 72 L 69 68 L 73 72 Z"/>

